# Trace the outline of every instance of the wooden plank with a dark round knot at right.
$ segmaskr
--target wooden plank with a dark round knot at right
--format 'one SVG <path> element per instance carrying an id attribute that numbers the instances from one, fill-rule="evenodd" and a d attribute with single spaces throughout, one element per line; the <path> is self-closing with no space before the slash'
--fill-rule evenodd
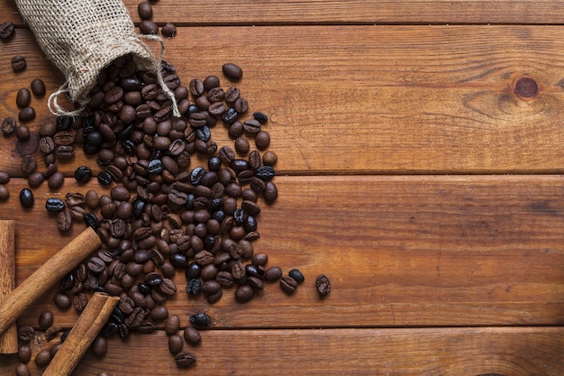
<path id="1" fill-rule="evenodd" d="M 559 27 L 188 30 L 167 41 L 166 59 L 185 83 L 221 75 L 226 61 L 241 65 L 238 87 L 270 116 L 283 174 L 559 173 L 564 165 Z M 32 78 L 46 78 L 50 90 L 61 83 L 29 33 L 0 48 L 1 114 L 17 114 L 15 93 Z M 21 51 L 30 68 L 14 75 L 8 61 Z M 515 95 L 520 78 L 534 79 L 538 94 Z M 50 119 L 45 101 L 33 101 L 32 128 Z M 220 145 L 232 142 L 225 133 L 214 129 Z M 18 174 L 14 152 L 14 139 L 2 138 L 2 169 Z M 80 154 L 63 169 L 84 163 Z"/>

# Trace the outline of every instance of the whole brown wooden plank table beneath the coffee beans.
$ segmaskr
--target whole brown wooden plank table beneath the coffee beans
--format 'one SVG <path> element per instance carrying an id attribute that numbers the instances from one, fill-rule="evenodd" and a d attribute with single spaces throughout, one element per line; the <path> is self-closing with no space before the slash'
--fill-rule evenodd
<path id="1" fill-rule="evenodd" d="M 125 3 L 139 22 L 137 1 Z M 49 92 L 64 79 L 13 2 L 0 9 L 18 26 L 0 43 L 4 118 L 33 78 Z M 183 326 L 201 310 L 215 319 L 189 349 L 195 368 L 177 369 L 158 330 L 111 339 L 105 359 L 87 353 L 75 374 L 564 374 L 563 16 L 556 0 L 160 0 L 154 20 L 179 27 L 165 59 L 183 81 L 234 62 L 251 108 L 268 114 L 279 197 L 255 248 L 305 283 L 292 297 L 268 285 L 250 303 L 228 291 L 208 305 L 186 298 L 178 274 L 169 312 Z M 16 54 L 23 73 L 10 67 Z M 523 78 L 536 90 L 520 90 Z M 53 118 L 46 98 L 32 105 L 36 131 Z M 45 184 L 20 208 L 14 138 L 0 137 L 0 160 L 13 174 L 0 219 L 16 221 L 19 283 L 81 228 L 59 234 L 39 204 L 59 192 Z M 94 160 L 59 165 L 61 193 L 104 191 L 77 186 L 83 163 Z M 320 273 L 332 280 L 324 299 Z M 50 308 L 72 326 L 56 289 L 19 324 Z M 15 362 L 0 357 L 5 370 Z"/>

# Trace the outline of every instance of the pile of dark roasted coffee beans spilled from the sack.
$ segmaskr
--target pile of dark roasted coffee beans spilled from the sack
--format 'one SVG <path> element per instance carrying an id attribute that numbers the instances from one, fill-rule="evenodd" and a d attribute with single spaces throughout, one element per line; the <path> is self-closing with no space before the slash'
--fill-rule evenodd
<path id="1" fill-rule="evenodd" d="M 138 6 L 140 31 L 158 34 L 152 7 Z M 10 38 L 11 23 L 0 25 L 0 37 Z M 167 23 L 160 33 L 173 37 L 176 27 Z M 22 56 L 14 57 L 13 68 L 25 68 Z M 118 306 L 92 345 L 97 357 L 107 352 L 107 338 L 128 337 L 132 331 L 152 333 L 164 325 L 168 349 L 180 368 L 196 362 L 185 343 L 201 342 L 199 330 L 214 325 L 214 318 L 199 312 L 189 317 L 190 326 L 180 333 L 180 318 L 169 315 L 168 298 L 181 293 L 186 299 L 204 297 L 214 304 L 225 291 L 245 303 L 260 294 L 268 283 L 292 295 L 305 277 L 296 269 L 283 274 L 268 266 L 268 255 L 256 252 L 261 202 L 277 200 L 274 182 L 277 154 L 268 150 L 268 115 L 250 111 L 238 87 L 221 86 L 221 78 L 210 75 L 183 85 L 176 69 L 163 61 L 161 74 L 177 100 L 180 117 L 173 116 L 170 98 L 159 87 L 156 72 L 137 69 L 131 56 L 123 56 L 104 69 L 92 88 L 86 115 L 59 116 L 39 127 L 39 150 L 45 162 L 40 172 L 37 160 L 22 158 L 21 170 L 30 188 L 20 193 L 24 208 L 35 205 L 32 189 L 47 182 L 59 191 L 64 176 L 60 161 L 72 160 L 77 152 L 96 159 L 97 166 L 81 166 L 74 178 L 80 185 L 92 179 L 106 188 L 68 192 L 64 198 L 49 198 L 46 210 L 55 217 L 60 232 L 73 224 L 93 227 L 103 246 L 59 283 L 54 303 L 59 309 L 82 311 L 96 291 L 120 297 Z M 222 67 L 231 82 L 243 72 L 233 63 Z M 30 91 L 31 89 L 31 91 Z M 16 96 L 17 120 L 5 117 L 2 133 L 13 133 L 19 141 L 31 136 L 26 123 L 35 118 L 32 97 L 45 95 L 45 85 L 35 79 Z M 231 145 L 213 139 L 216 130 L 227 132 Z M 205 160 L 195 165 L 195 160 Z M 97 170 L 99 172 L 95 173 Z M 0 201 L 9 197 L 5 184 L 9 175 L 0 172 Z M 173 281 L 181 272 L 186 285 Z M 316 280 L 320 297 L 329 294 L 328 278 Z M 49 311 L 41 313 L 39 328 L 52 345 L 35 357 L 44 367 L 64 341 L 68 330 L 53 325 Z M 21 363 L 16 374 L 27 375 L 31 359 L 32 326 L 20 328 Z M 104 374 L 104 372 L 100 373 Z"/>

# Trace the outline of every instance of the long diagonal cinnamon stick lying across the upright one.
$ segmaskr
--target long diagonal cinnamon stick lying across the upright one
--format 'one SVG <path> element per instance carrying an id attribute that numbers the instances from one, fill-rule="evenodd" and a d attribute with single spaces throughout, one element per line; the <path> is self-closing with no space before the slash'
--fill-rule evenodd
<path id="1" fill-rule="evenodd" d="M 96 251 L 102 242 L 91 227 L 78 234 L 62 250 L 55 253 L 9 295 L 0 300 L 0 334 L 11 326 L 23 311 L 69 271 Z"/>

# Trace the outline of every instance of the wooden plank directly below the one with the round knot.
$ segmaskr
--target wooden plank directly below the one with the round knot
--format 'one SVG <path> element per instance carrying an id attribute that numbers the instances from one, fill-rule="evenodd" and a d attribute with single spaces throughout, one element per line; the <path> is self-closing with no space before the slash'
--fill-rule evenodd
<path id="1" fill-rule="evenodd" d="M 228 289 L 209 306 L 203 297 L 186 297 L 186 278 L 178 271 L 169 312 L 186 317 L 205 310 L 217 327 L 564 323 L 560 176 L 277 177 L 276 182 L 279 199 L 259 215 L 255 251 L 269 255 L 268 265 L 303 271 L 304 285 L 287 297 L 277 284 L 267 284 L 242 305 Z M 16 221 L 18 283 L 69 239 L 46 214 L 43 203 L 53 196 L 46 188 L 36 190 L 31 211 L 19 208 L 22 183 L 9 184 L 13 198 L 0 215 Z M 86 188 L 68 181 L 62 192 Z M 75 225 L 73 234 L 81 228 Z M 325 299 L 314 288 L 321 273 L 332 280 Z M 42 309 L 53 309 L 54 292 L 21 323 L 36 325 Z M 72 309 L 59 313 L 60 325 L 75 319 Z"/>

